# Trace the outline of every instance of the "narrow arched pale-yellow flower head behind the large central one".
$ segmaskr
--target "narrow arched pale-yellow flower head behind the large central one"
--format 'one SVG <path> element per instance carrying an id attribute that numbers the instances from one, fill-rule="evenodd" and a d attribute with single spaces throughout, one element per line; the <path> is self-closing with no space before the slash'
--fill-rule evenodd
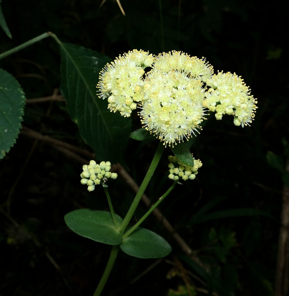
<path id="1" fill-rule="evenodd" d="M 187 75 L 206 82 L 214 73 L 213 67 L 202 57 L 190 57 L 184 52 L 163 52 L 155 58 L 153 71 L 169 72 L 170 70 L 184 71 Z"/>

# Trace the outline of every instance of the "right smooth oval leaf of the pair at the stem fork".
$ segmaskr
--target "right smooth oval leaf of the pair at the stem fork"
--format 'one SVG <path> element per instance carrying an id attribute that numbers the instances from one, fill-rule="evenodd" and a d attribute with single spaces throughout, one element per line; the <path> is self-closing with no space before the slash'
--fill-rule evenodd
<path id="1" fill-rule="evenodd" d="M 141 227 L 123 240 L 120 249 L 137 258 L 161 258 L 172 251 L 172 247 L 165 239 Z"/>

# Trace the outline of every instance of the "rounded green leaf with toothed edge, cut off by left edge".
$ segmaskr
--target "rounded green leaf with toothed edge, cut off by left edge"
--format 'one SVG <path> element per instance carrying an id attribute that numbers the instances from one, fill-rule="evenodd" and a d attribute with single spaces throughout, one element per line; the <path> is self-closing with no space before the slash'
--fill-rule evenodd
<path id="1" fill-rule="evenodd" d="M 16 142 L 25 100 L 25 94 L 17 80 L 0 69 L 0 159 Z"/>

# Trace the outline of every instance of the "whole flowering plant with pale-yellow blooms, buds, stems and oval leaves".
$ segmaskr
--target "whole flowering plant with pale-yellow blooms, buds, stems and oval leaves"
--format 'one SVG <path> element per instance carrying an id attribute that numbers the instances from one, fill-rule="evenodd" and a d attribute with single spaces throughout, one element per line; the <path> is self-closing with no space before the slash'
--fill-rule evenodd
<path id="1" fill-rule="evenodd" d="M 110 172 L 111 163 L 97 164 L 91 160 L 82 167 L 81 184 L 87 185 L 90 192 L 96 185 L 102 185 L 110 208 L 110 212 L 79 209 L 65 216 L 66 224 L 77 234 L 112 245 L 94 296 L 101 294 L 120 249 L 138 258 L 161 258 L 171 252 L 165 239 L 139 225 L 177 184 L 196 178 L 202 163 L 194 159 L 184 139 L 200 133 L 207 112 L 215 112 L 217 120 L 225 114 L 233 115 L 234 124 L 244 127 L 250 126 L 257 108 L 256 100 L 241 77 L 223 71 L 214 74 L 206 59 L 176 51 L 157 57 L 136 49 L 123 54 L 101 70 L 97 87 L 99 98 L 107 99 L 110 112 L 119 112 L 128 118 L 133 110 L 139 109 L 143 126 L 131 132 L 131 138 L 150 140 L 153 135 L 160 143 L 123 219 L 115 214 L 107 190 L 108 179 L 117 178 L 116 173 Z M 173 183 L 134 226 L 128 226 L 167 146 L 174 154 L 169 156 L 168 164 L 168 178 Z"/>

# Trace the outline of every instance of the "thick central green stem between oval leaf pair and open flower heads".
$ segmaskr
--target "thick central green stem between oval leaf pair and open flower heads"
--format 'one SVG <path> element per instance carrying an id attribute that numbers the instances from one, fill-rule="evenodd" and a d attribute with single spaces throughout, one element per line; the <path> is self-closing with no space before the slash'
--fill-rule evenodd
<path id="1" fill-rule="evenodd" d="M 136 196 L 131 204 L 131 207 L 129 208 L 125 218 L 123 219 L 122 223 L 120 224 L 120 233 L 123 234 L 123 232 L 126 229 L 126 226 L 128 226 L 129 221 L 131 221 L 131 217 L 134 215 L 134 211 L 136 210 L 137 205 L 139 204 L 139 201 L 144 194 L 144 190 L 147 188 L 147 185 L 150 182 L 150 179 L 153 176 L 153 173 L 155 172 L 155 169 L 158 165 L 158 162 L 161 158 L 161 155 L 163 154 L 163 150 L 165 149 L 165 146 L 163 145 L 163 142 L 159 142 L 158 148 L 155 152 L 155 155 L 153 157 L 152 163 L 150 164 L 150 167 L 147 171 L 147 174 L 144 177 L 144 180 L 142 181 L 141 186 L 139 187 L 138 192 L 136 193 Z"/>

